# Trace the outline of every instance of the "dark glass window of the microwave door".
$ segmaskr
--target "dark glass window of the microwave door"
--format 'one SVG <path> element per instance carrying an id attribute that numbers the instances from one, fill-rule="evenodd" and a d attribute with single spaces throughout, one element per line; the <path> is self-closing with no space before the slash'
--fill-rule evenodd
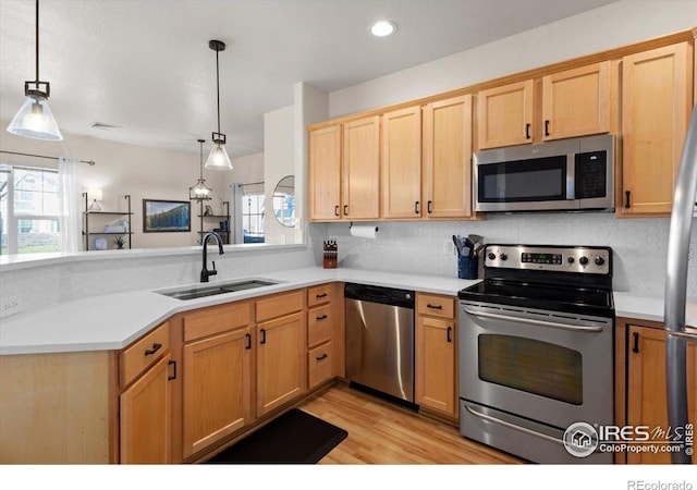
<path id="1" fill-rule="evenodd" d="M 481 203 L 566 199 L 566 156 L 481 164 Z"/>

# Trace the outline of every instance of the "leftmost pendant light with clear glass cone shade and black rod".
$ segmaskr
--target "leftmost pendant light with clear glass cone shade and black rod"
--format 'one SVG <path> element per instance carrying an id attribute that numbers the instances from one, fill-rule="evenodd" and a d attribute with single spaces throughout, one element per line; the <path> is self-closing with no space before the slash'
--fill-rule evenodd
<path id="1" fill-rule="evenodd" d="M 33 139 L 62 140 L 63 135 L 48 107 L 51 86 L 39 81 L 39 0 L 36 0 L 36 79 L 24 82 L 24 95 L 26 100 L 12 119 L 8 132 Z"/>

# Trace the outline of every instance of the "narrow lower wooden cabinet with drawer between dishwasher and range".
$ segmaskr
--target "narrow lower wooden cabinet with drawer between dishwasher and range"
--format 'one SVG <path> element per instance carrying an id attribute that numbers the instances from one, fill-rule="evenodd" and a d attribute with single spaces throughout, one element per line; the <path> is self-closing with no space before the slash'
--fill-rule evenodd
<path id="1" fill-rule="evenodd" d="M 417 293 L 416 403 L 451 417 L 457 416 L 454 303 L 453 297 Z"/>

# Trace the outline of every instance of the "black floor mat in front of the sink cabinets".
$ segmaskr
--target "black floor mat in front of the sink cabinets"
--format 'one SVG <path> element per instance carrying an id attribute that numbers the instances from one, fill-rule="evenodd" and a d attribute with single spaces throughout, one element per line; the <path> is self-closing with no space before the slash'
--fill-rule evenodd
<path id="1" fill-rule="evenodd" d="M 348 436 L 293 408 L 204 464 L 314 464 Z"/>

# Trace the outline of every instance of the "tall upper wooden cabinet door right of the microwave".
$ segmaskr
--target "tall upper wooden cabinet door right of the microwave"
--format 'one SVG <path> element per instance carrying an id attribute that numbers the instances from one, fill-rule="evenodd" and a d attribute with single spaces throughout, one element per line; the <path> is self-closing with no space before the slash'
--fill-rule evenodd
<path id="1" fill-rule="evenodd" d="M 622 215 L 669 215 L 692 110 L 687 42 L 622 60 Z"/>

